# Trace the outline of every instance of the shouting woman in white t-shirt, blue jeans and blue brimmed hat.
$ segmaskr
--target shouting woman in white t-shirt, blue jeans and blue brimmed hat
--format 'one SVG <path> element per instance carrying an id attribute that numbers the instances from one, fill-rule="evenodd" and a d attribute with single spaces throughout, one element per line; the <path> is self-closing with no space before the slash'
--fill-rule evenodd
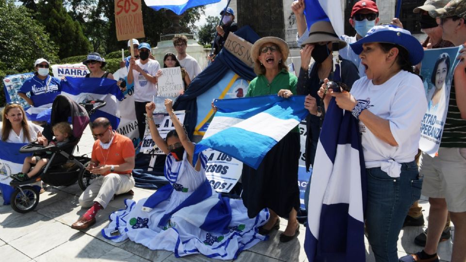
<path id="1" fill-rule="evenodd" d="M 324 102 L 335 97 L 340 108 L 359 119 L 369 244 L 377 262 L 398 262 L 399 231 L 422 186 L 414 159 L 427 99 L 412 66 L 421 62 L 424 51 L 409 31 L 391 25 L 373 27 L 350 46 L 366 77 L 354 82 L 350 93 L 328 92 Z M 324 85 L 320 97 L 323 92 Z"/>

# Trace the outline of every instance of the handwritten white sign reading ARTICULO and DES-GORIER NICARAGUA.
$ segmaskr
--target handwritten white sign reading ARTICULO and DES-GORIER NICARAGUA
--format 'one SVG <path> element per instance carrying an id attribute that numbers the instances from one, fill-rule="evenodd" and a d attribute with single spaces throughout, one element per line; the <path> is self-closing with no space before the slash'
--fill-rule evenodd
<path id="1" fill-rule="evenodd" d="M 167 67 L 161 68 L 162 75 L 157 80 L 157 96 L 166 98 L 176 98 L 184 91 L 181 68 Z"/>

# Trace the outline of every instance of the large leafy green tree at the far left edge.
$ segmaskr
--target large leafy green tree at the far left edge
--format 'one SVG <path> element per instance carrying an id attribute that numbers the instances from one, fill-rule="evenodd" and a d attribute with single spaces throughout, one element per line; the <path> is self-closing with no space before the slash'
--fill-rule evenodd
<path id="1" fill-rule="evenodd" d="M 0 106 L 4 104 L 3 77 L 33 71 L 33 63 L 44 57 L 57 61 L 55 44 L 49 34 L 24 6 L 13 0 L 0 0 Z"/>

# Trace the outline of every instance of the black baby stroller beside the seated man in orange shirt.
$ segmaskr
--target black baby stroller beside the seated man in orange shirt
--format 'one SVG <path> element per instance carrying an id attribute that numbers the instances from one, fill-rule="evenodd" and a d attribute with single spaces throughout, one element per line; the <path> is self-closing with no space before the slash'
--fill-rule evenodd
<path id="1" fill-rule="evenodd" d="M 96 103 L 97 102 L 97 103 Z M 95 107 L 95 105 L 97 105 Z M 32 211 L 39 203 L 39 192 L 33 183 L 44 181 L 52 186 L 69 186 L 78 181 L 82 190 L 90 184 L 97 176 L 88 172 L 85 167 L 90 161 L 86 156 L 73 156 L 73 151 L 78 145 L 84 129 L 89 124 L 89 115 L 86 111 L 93 113 L 97 108 L 103 107 L 104 101 L 84 101 L 84 107 L 67 96 L 58 95 L 52 104 L 50 124 L 53 126 L 59 122 L 68 122 L 71 118 L 73 128 L 72 137 L 69 142 L 61 146 L 47 146 L 31 143 L 19 150 L 21 153 L 33 153 L 33 155 L 49 154 L 50 160 L 42 170 L 33 178 L 26 181 L 12 180 L 10 185 L 15 188 L 10 202 L 11 207 L 19 212 Z"/>

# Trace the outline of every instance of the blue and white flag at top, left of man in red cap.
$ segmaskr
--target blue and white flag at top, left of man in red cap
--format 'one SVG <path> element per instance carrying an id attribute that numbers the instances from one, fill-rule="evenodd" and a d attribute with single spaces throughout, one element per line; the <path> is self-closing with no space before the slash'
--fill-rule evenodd
<path id="1" fill-rule="evenodd" d="M 329 21 L 333 30 L 338 36 L 345 33 L 343 27 L 343 16 L 340 0 L 305 0 L 306 8 L 304 16 L 306 16 L 307 29 L 317 21 Z"/>

